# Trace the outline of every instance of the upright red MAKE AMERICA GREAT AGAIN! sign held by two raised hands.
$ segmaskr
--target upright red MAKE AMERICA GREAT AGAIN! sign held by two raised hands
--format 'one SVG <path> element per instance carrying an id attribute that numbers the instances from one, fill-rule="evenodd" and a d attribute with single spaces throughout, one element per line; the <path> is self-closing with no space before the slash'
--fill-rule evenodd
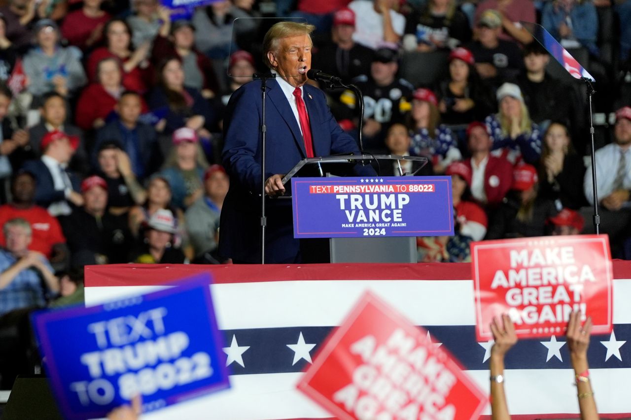
<path id="1" fill-rule="evenodd" d="M 606 235 L 544 236 L 471 243 L 476 337 L 493 337 L 493 317 L 508 313 L 518 337 L 565 334 L 570 312 L 610 333 L 612 277 Z"/>

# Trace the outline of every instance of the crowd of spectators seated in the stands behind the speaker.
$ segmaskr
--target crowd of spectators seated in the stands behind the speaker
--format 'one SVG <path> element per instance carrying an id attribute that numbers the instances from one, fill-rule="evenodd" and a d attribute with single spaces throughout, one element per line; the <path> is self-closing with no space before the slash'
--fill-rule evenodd
<path id="1" fill-rule="evenodd" d="M 267 16 L 312 23 L 312 67 L 360 86 L 365 151 L 424 156 L 403 171 L 452 177 L 456 235 L 418 238 L 423 262 L 466 262 L 471 241 L 593 231 L 588 108 L 520 22 L 541 23 L 589 58 L 597 86 L 616 86 L 598 93 L 613 124 L 596 152 L 600 227 L 614 256 L 631 258 L 630 0 L 3 3 L 0 320 L 80 301 L 87 264 L 230 262 L 218 252 L 223 119 L 269 66 Z M 604 12 L 620 25 L 599 28 Z M 445 66 L 410 83 L 411 57 Z M 355 95 L 326 95 L 357 137 Z"/>

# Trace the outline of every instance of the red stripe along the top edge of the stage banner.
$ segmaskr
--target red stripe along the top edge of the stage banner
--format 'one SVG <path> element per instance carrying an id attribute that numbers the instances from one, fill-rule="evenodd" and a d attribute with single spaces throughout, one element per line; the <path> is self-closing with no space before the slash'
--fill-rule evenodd
<path id="1" fill-rule="evenodd" d="M 471 264 L 112 264 L 86 265 L 85 284 L 151 286 L 210 272 L 215 283 L 296 280 L 469 280 Z M 631 261 L 613 260 L 615 279 L 631 279 Z"/>

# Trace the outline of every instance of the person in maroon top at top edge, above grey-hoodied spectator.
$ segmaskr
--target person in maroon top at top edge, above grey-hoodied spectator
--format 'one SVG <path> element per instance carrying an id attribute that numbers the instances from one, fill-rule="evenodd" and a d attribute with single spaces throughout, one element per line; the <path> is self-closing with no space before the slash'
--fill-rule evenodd
<path id="1" fill-rule="evenodd" d="M 61 25 L 61 35 L 68 44 L 89 50 L 103 38 L 103 26 L 112 16 L 101 10 L 103 0 L 84 0 L 83 8 L 69 13 Z"/>

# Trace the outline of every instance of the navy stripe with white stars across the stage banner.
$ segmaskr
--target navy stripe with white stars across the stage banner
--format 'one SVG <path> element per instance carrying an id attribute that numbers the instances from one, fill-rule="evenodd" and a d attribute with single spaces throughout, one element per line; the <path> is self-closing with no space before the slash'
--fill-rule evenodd
<path id="1" fill-rule="evenodd" d="M 297 353 L 288 345 L 298 345 L 298 356 L 306 357 L 309 354 L 310 358 L 315 358 L 319 346 L 332 329 L 289 327 L 223 330 L 225 345 L 230 346 L 225 350 L 230 361 L 230 374 L 300 372 L 309 362 L 300 358 L 292 365 Z M 490 344 L 476 342 L 475 327 L 472 325 L 430 326 L 427 330 L 432 341 L 447 347 L 466 370 L 488 369 Z M 631 324 L 614 325 L 613 332 L 613 336 L 591 337 L 587 354 L 591 368 L 631 368 Z M 300 334 L 304 346 L 300 345 Z M 309 346 L 313 344 L 315 346 Z M 300 352 L 300 349 L 303 351 Z M 237 357 L 231 358 L 231 355 Z M 239 361 L 242 361 L 243 366 Z M 565 337 L 521 340 L 507 354 L 505 365 L 507 369 L 569 369 L 571 365 Z"/>

